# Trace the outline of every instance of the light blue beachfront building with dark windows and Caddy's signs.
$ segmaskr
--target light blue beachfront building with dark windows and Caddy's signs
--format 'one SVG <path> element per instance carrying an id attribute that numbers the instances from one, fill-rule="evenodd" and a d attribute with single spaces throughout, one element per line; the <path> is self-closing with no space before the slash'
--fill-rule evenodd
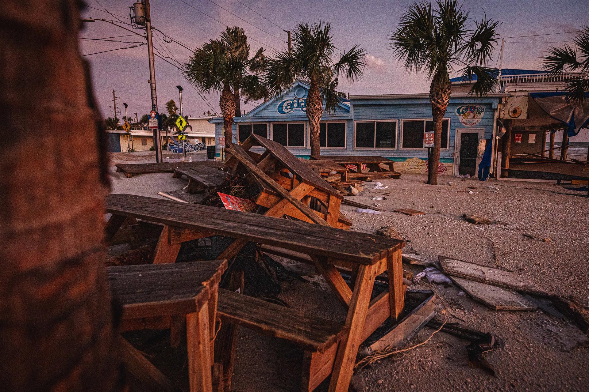
<path id="1" fill-rule="evenodd" d="M 296 82 L 280 97 L 267 100 L 234 118 L 233 142 L 250 133 L 276 140 L 294 155 L 310 155 L 309 122 L 305 101 L 309 86 Z M 447 175 L 475 173 L 486 139 L 494 140 L 497 108 L 504 93 L 475 99 L 468 93 L 453 94 L 444 118 L 441 165 Z M 223 118 L 215 124 L 217 156 L 222 146 Z M 425 172 L 428 149 L 423 133 L 432 130 L 428 94 L 352 95 L 335 113 L 324 113 L 320 125 L 321 155 L 380 155 L 396 162 L 398 172 Z"/>

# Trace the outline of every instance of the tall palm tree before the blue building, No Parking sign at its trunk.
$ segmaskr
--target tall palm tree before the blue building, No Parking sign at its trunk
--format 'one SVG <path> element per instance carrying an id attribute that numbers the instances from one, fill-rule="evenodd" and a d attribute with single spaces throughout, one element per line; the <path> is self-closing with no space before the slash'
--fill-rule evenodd
<path id="1" fill-rule="evenodd" d="M 468 11 L 456 0 L 438 0 L 436 9 L 429 2 L 417 2 L 401 15 L 399 26 L 389 35 L 393 55 L 407 71 L 426 73 L 431 80 L 429 100 L 434 118 L 434 151 L 429 159 L 428 184 L 438 183 L 442 144 L 442 120 L 450 102 L 449 74 L 456 68 L 464 78 L 477 76 L 471 89 L 474 96 L 492 91 L 497 79 L 485 66 L 497 43 L 498 21 L 483 16 L 469 19 Z"/>

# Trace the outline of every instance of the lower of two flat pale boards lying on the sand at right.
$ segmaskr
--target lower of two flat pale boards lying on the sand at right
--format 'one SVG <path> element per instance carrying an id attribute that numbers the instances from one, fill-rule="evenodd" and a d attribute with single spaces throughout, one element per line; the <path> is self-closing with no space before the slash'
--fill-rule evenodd
<path id="1" fill-rule="evenodd" d="M 473 299 L 495 310 L 536 310 L 538 307 L 521 294 L 461 277 L 451 279 Z"/>

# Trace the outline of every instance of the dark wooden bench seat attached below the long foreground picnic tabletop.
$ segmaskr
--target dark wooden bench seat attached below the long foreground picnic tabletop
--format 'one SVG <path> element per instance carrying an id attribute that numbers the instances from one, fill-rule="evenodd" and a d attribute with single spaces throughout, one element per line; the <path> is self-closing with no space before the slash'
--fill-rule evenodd
<path id="1" fill-rule="evenodd" d="M 335 321 L 224 289 L 219 289 L 217 314 L 224 323 L 240 324 L 319 352 L 325 351 L 347 331 Z"/>

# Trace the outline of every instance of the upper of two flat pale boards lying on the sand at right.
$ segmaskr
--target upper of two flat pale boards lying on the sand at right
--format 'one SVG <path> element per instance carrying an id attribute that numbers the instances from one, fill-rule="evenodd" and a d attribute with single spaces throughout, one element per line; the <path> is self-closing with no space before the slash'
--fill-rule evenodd
<path id="1" fill-rule="evenodd" d="M 522 279 L 517 273 L 444 256 L 439 256 L 439 262 L 444 272 L 448 275 L 474 280 L 475 282 L 492 284 L 493 286 L 506 287 L 512 290 L 523 290 L 526 292 L 540 291 L 534 283 Z"/>

